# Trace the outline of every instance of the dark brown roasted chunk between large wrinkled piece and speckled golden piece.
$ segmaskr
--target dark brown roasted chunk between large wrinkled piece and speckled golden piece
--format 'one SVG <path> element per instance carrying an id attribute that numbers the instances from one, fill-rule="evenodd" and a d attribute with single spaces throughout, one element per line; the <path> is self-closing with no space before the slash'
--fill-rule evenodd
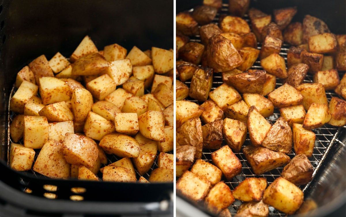
<path id="1" fill-rule="evenodd" d="M 223 120 L 207 123 L 202 126 L 203 148 L 219 149 L 222 143 Z"/>

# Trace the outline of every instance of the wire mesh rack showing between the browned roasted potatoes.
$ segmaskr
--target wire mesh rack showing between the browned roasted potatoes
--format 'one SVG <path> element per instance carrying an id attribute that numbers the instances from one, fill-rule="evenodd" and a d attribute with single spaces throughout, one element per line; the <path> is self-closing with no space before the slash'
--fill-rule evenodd
<path id="1" fill-rule="evenodd" d="M 190 11 L 192 11 L 193 9 L 191 9 Z M 222 4 L 222 8 L 220 13 L 217 13 L 216 18 L 213 20 L 213 23 L 215 23 L 216 25 L 218 25 L 219 22 L 219 17 L 221 14 L 227 14 L 228 15 L 228 4 Z M 245 19 L 249 25 L 250 24 L 250 20 L 248 19 L 248 16 L 245 15 L 243 17 L 243 19 Z M 199 35 L 196 36 L 192 36 L 190 37 L 190 41 L 194 41 L 194 42 L 198 42 L 201 43 L 201 39 Z M 285 59 L 285 63 L 287 64 L 287 51 L 289 50 L 290 45 L 288 44 L 283 44 L 281 47 L 281 52 L 280 55 L 282 57 L 284 57 Z M 261 49 L 261 44 L 258 43 L 258 47 L 257 49 Z M 257 70 L 262 70 L 262 66 L 260 64 L 260 61 L 257 60 L 254 65 L 251 67 L 251 69 L 257 69 Z M 339 75 L 340 78 L 342 77 L 342 74 Z M 313 82 L 313 78 L 311 74 L 308 74 L 307 77 L 304 80 L 305 83 L 312 83 Z M 190 87 L 191 81 L 186 81 L 185 84 Z M 212 90 L 215 89 L 216 87 L 220 86 L 221 84 L 223 84 L 222 82 L 222 77 L 221 77 L 221 73 L 214 73 L 213 74 L 213 84 L 212 84 Z M 281 79 L 277 78 L 276 79 L 276 88 L 280 87 L 282 85 L 282 81 Z M 326 95 L 328 98 L 328 101 L 330 101 L 331 97 L 333 96 L 338 96 L 334 91 L 326 91 Z M 186 98 L 186 100 L 195 102 L 197 104 L 201 104 L 201 102 L 198 102 L 197 100 L 194 100 L 191 97 Z M 270 121 L 272 124 L 275 123 L 275 121 L 280 117 L 280 112 L 277 108 L 274 109 L 274 114 L 271 115 L 270 117 L 267 117 L 266 119 L 268 121 Z M 344 126 L 345 128 L 345 126 Z M 338 135 L 340 129 L 325 124 L 324 126 L 322 126 L 321 128 L 318 129 L 313 129 L 312 130 L 315 134 L 316 134 L 316 141 L 315 141 L 315 148 L 313 149 L 313 155 L 312 157 L 309 158 L 314 172 L 313 172 L 313 178 L 315 178 L 316 173 L 318 171 L 318 169 L 321 167 L 324 159 L 326 158 L 326 155 L 329 152 L 329 149 L 331 148 L 331 146 L 333 145 L 333 143 L 337 140 L 338 138 L 340 138 L 342 135 Z M 244 146 L 251 144 L 250 139 L 249 139 L 249 133 L 247 133 L 247 137 L 246 137 L 246 141 L 244 142 Z M 222 146 L 227 145 L 225 140 L 222 142 L 221 144 Z M 203 149 L 203 153 L 202 153 L 202 159 L 205 161 L 208 161 L 210 163 L 211 162 L 211 153 L 215 151 L 215 150 L 210 150 L 210 149 Z M 224 177 L 222 178 L 222 181 L 224 181 L 231 190 L 233 190 L 235 187 L 237 187 L 239 185 L 240 182 L 242 182 L 245 178 L 249 178 L 249 177 L 264 177 L 267 179 L 268 185 L 270 185 L 277 177 L 279 177 L 281 175 L 282 169 L 283 167 L 279 167 L 276 169 L 273 169 L 269 172 L 266 172 L 260 176 L 256 176 L 251 167 L 250 164 L 247 162 L 244 154 L 242 152 L 240 153 L 235 153 L 236 156 L 239 158 L 240 162 L 242 163 L 242 172 L 235 176 L 232 180 L 227 180 Z M 292 153 L 288 154 L 290 156 L 290 158 L 292 159 L 295 156 L 294 150 L 292 149 Z M 325 162 L 327 163 L 327 162 Z M 307 190 L 307 188 L 309 187 L 311 182 L 307 183 L 306 185 L 301 185 L 299 186 L 303 192 L 305 192 Z M 239 206 L 242 204 L 242 202 L 240 200 L 236 200 L 230 207 L 230 213 L 231 214 L 236 214 L 237 210 L 239 208 Z M 269 216 L 273 217 L 273 216 L 286 216 L 286 214 L 276 210 L 274 207 L 269 207 Z"/>

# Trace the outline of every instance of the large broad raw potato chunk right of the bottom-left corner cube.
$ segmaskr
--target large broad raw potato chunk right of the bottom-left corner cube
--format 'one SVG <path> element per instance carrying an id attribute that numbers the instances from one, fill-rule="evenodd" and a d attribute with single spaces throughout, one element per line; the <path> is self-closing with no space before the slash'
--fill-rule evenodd
<path id="1" fill-rule="evenodd" d="M 33 170 L 49 178 L 69 178 L 71 165 L 64 158 L 63 144 L 48 140 L 38 153 Z"/>

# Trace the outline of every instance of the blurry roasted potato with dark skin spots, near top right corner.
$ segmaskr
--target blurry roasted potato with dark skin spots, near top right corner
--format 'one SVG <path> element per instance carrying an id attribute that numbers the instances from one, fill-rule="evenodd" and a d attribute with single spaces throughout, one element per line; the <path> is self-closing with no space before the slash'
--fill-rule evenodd
<path id="1" fill-rule="evenodd" d="M 324 32 L 330 32 L 325 22 L 316 17 L 305 15 L 303 19 L 303 43 L 307 43 L 311 36 Z"/>

